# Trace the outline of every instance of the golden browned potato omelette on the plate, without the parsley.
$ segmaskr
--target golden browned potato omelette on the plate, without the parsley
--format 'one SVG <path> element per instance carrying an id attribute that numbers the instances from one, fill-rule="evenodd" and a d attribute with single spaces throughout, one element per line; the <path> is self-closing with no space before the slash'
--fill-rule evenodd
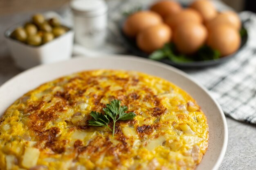
<path id="1" fill-rule="evenodd" d="M 90 112 L 104 113 L 113 99 L 136 113 L 117 121 L 114 137 L 88 126 Z M 193 170 L 208 140 L 204 113 L 170 82 L 135 71 L 85 71 L 43 84 L 6 110 L 0 170 Z"/>

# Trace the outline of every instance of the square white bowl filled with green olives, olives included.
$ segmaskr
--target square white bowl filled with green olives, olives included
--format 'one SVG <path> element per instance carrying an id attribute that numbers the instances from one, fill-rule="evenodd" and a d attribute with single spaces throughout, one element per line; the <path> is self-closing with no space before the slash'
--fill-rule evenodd
<path id="1" fill-rule="evenodd" d="M 5 32 L 8 48 L 22 69 L 68 60 L 72 55 L 74 31 L 56 17 L 35 14 L 29 22 Z"/>

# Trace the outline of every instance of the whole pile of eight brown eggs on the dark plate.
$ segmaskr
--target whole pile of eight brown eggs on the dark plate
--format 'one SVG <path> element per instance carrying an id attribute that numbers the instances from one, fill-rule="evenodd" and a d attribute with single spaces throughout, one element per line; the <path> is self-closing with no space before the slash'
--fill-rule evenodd
<path id="1" fill-rule="evenodd" d="M 135 38 L 139 49 L 146 53 L 173 42 L 185 55 L 207 44 L 222 57 L 238 50 L 240 29 L 241 21 L 235 12 L 218 12 L 210 0 L 195 0 L 187 8 L 172 0 L 161 0 L 148 11 L 131 14 L 123 25 L 124 33 Z"/>

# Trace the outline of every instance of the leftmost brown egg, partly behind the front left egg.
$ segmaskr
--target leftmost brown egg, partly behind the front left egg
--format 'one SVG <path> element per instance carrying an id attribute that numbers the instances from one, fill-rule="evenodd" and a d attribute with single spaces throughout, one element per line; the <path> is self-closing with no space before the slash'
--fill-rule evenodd
<path id="1" fill-rule="evenodd" d="M 130 15 L 123 25 L 123 31 L 129 37 L 135 37 L 140 31 L 162 23 L 162 18 L 153 11 L 139 11 Z"/>

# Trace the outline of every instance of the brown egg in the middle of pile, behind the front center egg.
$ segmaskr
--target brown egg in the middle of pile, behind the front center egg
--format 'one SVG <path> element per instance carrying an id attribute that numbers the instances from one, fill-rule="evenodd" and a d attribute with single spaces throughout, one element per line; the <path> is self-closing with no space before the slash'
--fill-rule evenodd
<path id="1" fill-rule="evenodd" d="M 194 22 L 198 24 L 202 23 L 202 17 L 194 9 L 188 8 L 174 15 L 166 16 L 164 22 L 174 30 L 176 26 L 182 24 L 183 22 Z"/>

